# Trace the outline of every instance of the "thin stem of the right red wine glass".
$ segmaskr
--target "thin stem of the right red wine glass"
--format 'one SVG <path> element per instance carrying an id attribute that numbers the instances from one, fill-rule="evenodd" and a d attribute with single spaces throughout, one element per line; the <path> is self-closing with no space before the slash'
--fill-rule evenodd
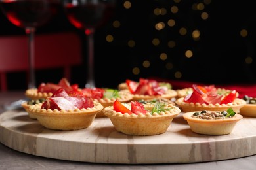
<path id="1" fill-rule="evenodd" d="M 87 29 L 85 34 L 87 35 L 87 82 L 85 88 L 95 88 L 95 76 L 94 76 L 94 29 Z"/>

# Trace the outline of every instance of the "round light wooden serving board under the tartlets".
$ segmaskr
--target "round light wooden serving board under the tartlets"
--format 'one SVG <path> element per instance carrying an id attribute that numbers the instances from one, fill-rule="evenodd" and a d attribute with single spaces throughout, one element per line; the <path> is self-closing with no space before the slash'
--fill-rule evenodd
<path id="1" fill-rule="evenodd" d="M 150 125 L 148 125 L 150 126 Z M 109 118 L 96 118 L 87 129 L 45 129 L 24 110 L 0 114 L 0 142 L 35 156 L 93 163 L 194 163 L 256 154 L 256 119 L 244 117 L 229 135 L 193 133 L 182 118 L 166 133 L 124 135 Z"/>

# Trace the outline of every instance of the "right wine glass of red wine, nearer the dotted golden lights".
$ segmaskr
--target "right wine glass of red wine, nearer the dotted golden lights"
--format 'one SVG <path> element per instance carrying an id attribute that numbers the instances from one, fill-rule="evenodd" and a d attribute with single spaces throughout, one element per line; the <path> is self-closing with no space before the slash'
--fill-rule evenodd
<path id="1" fill-rule="evenodd" d="M 116 0 L 64 0 L 64 10 L 70 23 L 87 36 L 87 82 L 85 88 L 95 88 L 94 33 L 114 14 Z"/>

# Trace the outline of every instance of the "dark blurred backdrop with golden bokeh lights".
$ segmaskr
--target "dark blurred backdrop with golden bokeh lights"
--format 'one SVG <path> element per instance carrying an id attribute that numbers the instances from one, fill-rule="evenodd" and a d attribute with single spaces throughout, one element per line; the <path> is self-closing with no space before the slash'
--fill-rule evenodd
<path id="1" fill-rule="evenodd" d="M 118 0 L 114 17 L 95 31 L 96 86 L 117 88 L 127 78 L 151 77 L 205 84 L 255 83 L 254 8 L 248 0 Z M 65 31 L 81 37 L 83 63 L 72 67 L 70 83 L 83 88 L 86 37 L 68 22 L 62 7 L 36 35 Z M 0 36 L 7 35 L 24 35 L 24 29 L 1 13 Z M 63 76 L 59 68 L 35 74 L 37 85 L 58 83 Z M 25 72 L 8 73 L 9 90 L 26 90 L 25 79 Z"/>

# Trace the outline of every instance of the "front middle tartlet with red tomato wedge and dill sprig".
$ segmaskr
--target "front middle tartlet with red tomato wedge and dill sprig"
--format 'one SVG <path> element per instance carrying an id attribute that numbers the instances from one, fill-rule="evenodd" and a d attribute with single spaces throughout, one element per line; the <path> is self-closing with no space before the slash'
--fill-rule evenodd
<path id="1" fill-rule="evenodd" d="M 121 103 L 117 100 L 113 106 L 103 109 L 117 131 L 139 136 L 165 133 L 180 112 L 178 107 L 170 103 Z"/>

